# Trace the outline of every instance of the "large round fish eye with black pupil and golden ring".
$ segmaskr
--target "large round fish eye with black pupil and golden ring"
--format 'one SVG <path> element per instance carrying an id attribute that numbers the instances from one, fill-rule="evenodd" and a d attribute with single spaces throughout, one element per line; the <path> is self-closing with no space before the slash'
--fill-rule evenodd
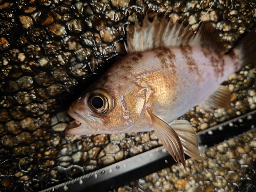
<path id="1" fill-rule="evenodd" d="M 87 104 L 92 112 L 108 114 L 113 108 L 113 98 L 109 91 L 94 89 L 87 96 Z"/>

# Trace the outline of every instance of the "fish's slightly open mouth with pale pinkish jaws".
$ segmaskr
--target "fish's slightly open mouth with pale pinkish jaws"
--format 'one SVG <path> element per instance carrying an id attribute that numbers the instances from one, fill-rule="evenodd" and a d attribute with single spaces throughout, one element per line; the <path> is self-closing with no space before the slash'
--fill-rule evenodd
<path id="1" fill-rule="evenodd" d="M 68 114 L 75 119 L 75 122 L 68 125 L 64 132 L 68 135 L 88 135 L 95 134 L 102 124 L 100 118 L 88 115 L 88 118 L 82 118 L 82 116 L 69 109 Z"/>

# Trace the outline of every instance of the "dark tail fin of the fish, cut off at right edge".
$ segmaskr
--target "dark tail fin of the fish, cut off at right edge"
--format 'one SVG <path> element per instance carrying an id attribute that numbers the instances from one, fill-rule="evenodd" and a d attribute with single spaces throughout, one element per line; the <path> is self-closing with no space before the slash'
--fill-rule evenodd
<path id="1" fill-rule="evenodd" d="M 256 62 L 256 27 L 239 41 L 232 53 L 239 56 L 238 69 Z"/>

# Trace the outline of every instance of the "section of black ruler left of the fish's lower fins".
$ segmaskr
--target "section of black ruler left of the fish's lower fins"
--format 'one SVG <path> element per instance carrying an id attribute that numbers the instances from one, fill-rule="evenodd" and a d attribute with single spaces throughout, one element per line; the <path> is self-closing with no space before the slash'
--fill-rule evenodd
<path id="1" fill-rule="evenodd" d="M 130 179 L 135 180 L 131 174 L 139 179 L 175 163 L 165 148 L 160 146 L 39 192 L 109 191 Z"/>

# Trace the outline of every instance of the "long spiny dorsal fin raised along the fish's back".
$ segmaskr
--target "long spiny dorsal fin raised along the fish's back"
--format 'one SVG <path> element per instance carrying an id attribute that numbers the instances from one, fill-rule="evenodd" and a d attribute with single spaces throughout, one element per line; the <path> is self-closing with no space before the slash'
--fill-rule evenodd
<path id="1" fill-rule="evenodd" d="M 149 22 L 147 15 L 142 27 L 138 20 L 135 22 L 133 35 L 127 33 L 128 52 L 145 51 L 158 47 L 172 46 L 200 46 L 216 53 L 224 54 L 225 47 L 222 44 L 218 31 L 209 23 L 203 22 L 197 33 L 191 31 L 189 26 L 169 19 L 166 15 L 159 19 L 155 16 L 153 22 Z"/>

